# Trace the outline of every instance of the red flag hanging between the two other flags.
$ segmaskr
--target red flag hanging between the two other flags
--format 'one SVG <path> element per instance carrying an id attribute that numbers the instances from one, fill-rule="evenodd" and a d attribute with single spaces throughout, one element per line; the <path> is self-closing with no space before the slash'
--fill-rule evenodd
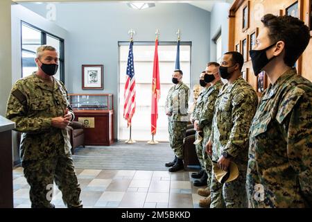
<path id="1" fill-rule="evenodd" d="M 159 83 L 159 64 L 158 64 L 158 35 L 155 40 L 154 68 L 153 68 L 153 83 L 152 83 L 152 115 L 151 115 L 151 133 L 154 136 L 157 130 L 158 119 L 158 101 L 160 98 L 160 83 Z"/>

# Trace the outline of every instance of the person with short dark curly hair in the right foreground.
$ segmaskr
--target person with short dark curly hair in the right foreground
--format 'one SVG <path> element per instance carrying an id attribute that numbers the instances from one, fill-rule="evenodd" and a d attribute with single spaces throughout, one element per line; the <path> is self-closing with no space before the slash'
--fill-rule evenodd
<path id="1" fill-rule="evenodd" d="M 250 127 L 249 207 L 312 207 L 312 83 L 292 68 L 309 44 L 309 28 L 291 16 L 269 14 L 261 22 L 250 56 L 254 74 L 266 71 L 270 85 Z"/>

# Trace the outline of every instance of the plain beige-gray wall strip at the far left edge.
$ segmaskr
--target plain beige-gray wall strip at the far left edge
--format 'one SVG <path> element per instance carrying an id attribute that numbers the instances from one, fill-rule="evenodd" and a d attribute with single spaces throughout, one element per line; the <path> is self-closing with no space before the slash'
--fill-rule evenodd
<path id="1" fill-rule="evenodd" d="M 0 115 L 5 117 L 11 89 L 11 1 L 0 1 Z"/>

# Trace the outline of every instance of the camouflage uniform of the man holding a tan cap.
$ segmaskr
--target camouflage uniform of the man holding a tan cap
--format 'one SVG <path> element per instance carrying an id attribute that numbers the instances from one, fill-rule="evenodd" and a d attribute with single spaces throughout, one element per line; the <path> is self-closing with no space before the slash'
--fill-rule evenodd
<path id="1" fill-rule="evenodd" d="M 223 85 L 218 94 L 211 130 L 212 160 L 218 161 L 223 151 L 227 151 L 240 173 L 239 178 L 221 186 L 212 180 L 210 207 L 220 206 L 221 195 L 226 207 L 247 207 L 246 192 L 237 192 L 245 189 L 249 130 L 257 104 L 256 92 L 243 78 Z"/>

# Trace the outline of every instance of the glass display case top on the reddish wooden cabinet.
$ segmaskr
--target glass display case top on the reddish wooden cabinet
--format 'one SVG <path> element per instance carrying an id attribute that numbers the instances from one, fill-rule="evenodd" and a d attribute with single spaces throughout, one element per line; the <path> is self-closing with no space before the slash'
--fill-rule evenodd
<path id="1" fill-rule="evenodd" d="M 69 94 L 73 110 L 114 110 L 112 94 Z"/>

